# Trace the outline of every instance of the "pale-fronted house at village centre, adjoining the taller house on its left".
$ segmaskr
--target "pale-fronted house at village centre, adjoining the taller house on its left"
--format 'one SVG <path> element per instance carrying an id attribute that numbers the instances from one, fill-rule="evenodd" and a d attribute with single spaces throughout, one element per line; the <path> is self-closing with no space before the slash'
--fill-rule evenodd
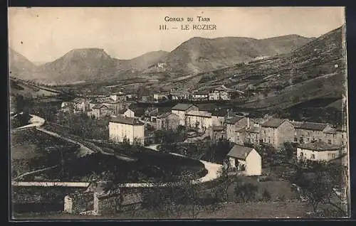
<path id="1" fill-rule="evenodd" d="M 185 114 L 187 128 L 197 129 L 199 132 L 205 132 L 213 125 L 210 112 L 189 111 Z"/>

